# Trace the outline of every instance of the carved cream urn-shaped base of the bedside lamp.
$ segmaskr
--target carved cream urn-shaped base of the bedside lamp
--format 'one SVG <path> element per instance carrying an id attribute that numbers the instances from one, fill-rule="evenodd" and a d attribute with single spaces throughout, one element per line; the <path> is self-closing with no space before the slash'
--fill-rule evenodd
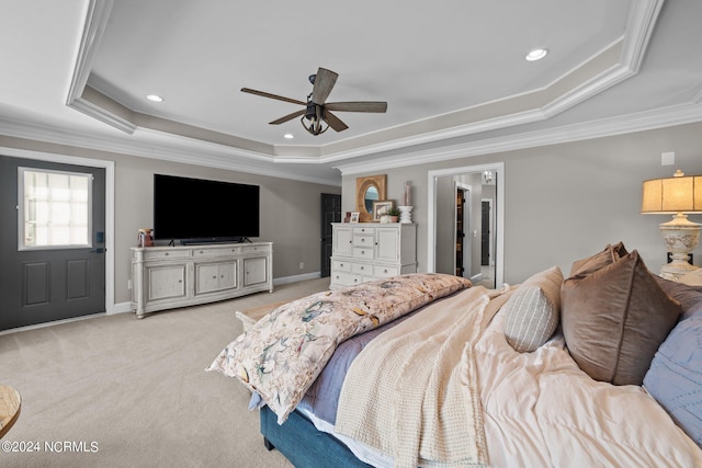
<path id="1" fill-rule="evenodd" d="M 699 266 L 689 264 L 688 259 L 700 241 L 702 225 L 688 220 L 687 215 L 679 213 L 672 220 L 659 225 L 658 229 L 672 259 L 660 269 L 660 276 L 677 281 L 680 276 L 698 270 Z"/>

